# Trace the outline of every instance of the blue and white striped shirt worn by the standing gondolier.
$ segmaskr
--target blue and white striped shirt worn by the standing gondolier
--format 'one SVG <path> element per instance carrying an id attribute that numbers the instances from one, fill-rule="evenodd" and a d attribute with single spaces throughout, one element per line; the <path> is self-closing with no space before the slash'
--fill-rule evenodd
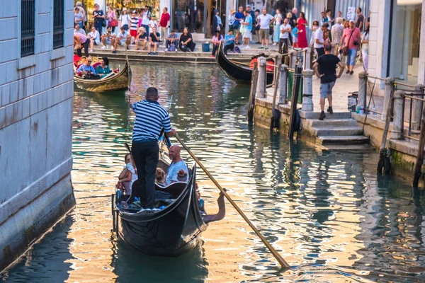
<path id="1" fill-rule="evenodd" d="M 171 132 L 169 114 L 157 101 L 139 101 L 133 103 L 131 108 L 136 113 L 133 141 L 159 139 L 159 134 L 161 134 L 163 127 L 165 132 Z"/>

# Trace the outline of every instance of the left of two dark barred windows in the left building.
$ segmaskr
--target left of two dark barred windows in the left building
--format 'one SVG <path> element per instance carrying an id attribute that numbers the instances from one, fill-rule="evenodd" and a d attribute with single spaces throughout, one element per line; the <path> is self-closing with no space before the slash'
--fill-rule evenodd
<path id="1" fill-rule="evenodd" d="M 35 0 L 21 0 L 21 57 L 34 54 Z"/>

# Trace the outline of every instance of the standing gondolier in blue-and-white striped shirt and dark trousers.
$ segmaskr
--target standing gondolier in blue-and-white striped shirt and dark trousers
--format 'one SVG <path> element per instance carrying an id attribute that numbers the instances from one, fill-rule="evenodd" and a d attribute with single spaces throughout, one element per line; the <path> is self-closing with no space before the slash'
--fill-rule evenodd
<path id="1" fill-rule="evenodd" d="M 158 139 L 164 128 L 173 137 L 168 112 L 158 103 L 158 89 L 147 88 L 145 100 L 132 104 L 136 114 L 132 134 L 132 154 L 139 175 L 140 203 L 145 209 L 154 208 L 155 173 L 159 161 Z"/>

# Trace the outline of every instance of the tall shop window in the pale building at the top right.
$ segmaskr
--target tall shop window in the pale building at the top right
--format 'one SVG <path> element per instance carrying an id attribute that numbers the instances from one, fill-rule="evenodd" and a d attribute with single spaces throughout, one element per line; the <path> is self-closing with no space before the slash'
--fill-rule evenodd
<path id="1" fill-rule="evenodd" d="M 392 0 L 389 75 L 417 83 L 422 0 Z"/>

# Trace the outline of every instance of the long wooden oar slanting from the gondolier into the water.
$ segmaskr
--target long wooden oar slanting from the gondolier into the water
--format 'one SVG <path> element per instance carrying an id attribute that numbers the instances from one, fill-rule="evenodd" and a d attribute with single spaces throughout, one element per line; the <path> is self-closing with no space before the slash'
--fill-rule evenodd
<path id="1" fill-rule="evenodd" d="M 212 177 L 212 175 L 210 174 L 210 172 L 208 172 L 207 168 L 205 168 L 203 166 L 203 164 L 200 163 L 200 161 L 198 160 L 198 158 L 196 158 L 195 154 L 193 154 L 192 151 L 188 148 L 188 146 L 186 146 L 186 144 L 180 139 L 179 134 L 176 134 L 174 137 L 176 137 L 176 139 L 181 143 L 181 145 L 183 146 L 183 148 L 186 149 L 186 151 L 188 151 L 188 154 L 190 154 L 192 156 L 192 158 L 196 161 L 196 163 L 198 163 L 198 165 L 200 166 L 200 168 L 202 168 L 202 170 L 205 172 L 205 174 L 208 175 L 208 177 L 212 180 L 212 183 L 214 183 L 217 186 L 218 190 L 220 190 L 220 192 L 222 192 L 222 194 L 225 195 L 225 197 L 230 202 L 230 204 L 232 204 L 232 206 L 234 207 L 234 209 L 236 209 L 236 211 L 242 216 L 242 218 L 251 227 L 251 229 L 254 230 L 254 232 L 257 234 L 257 236 L 259 236 L 259 238 L 261 239 L 261 241 L 263 241 L 264 245 L 266 245 L 266 247 L 268 248 L 268 250 L 270 250 L 270 252 L 273 254 L 274 258 L 276 258 L 276 260 L 280 263 L 280 265 L 282 265 L 282 267 L 285 267 L 285 268 L 290 268 L 290 265 L 288 265 L 288 262 L 286 262 L 279 255 L 279 253 L 271 246 L 271 244 L 268 243 L 268 241 L 266 240 L 266 238 L 264 238 L 264 236 L 261 235 L 260 231 L 258 229 L 256 229 L 256 226 L 254 226 L 254 224 L 252 224 L 252 222 L 248 219 L 248 217 L 246 217 L 246 215 L 244 214 L 244 212 L 242 212 L 242 210 L 237 206 L 237 204 L 232 200 L 232 198 L 229 197 L 229 195 L 227 195 L 227 192 L 222 188 L 222 186 L 217 182 L 217 180 L 215 180 L 215 178 Z"/>

